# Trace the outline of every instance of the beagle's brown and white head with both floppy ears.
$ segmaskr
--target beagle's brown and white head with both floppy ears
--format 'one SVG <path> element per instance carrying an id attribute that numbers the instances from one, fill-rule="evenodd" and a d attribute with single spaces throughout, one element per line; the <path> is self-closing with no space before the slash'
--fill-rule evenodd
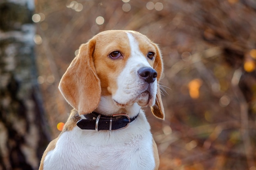
<path id="1" fill-rule="evenodd" d="M 67 102 L 79 114 L 91 113 L 101 96 L 116 106 L 150 106 L 164 119 L 159 80 L 162 56 L 156 44 L 135 31 L 103 31 L 82 44 L 59 84 Z"/>

